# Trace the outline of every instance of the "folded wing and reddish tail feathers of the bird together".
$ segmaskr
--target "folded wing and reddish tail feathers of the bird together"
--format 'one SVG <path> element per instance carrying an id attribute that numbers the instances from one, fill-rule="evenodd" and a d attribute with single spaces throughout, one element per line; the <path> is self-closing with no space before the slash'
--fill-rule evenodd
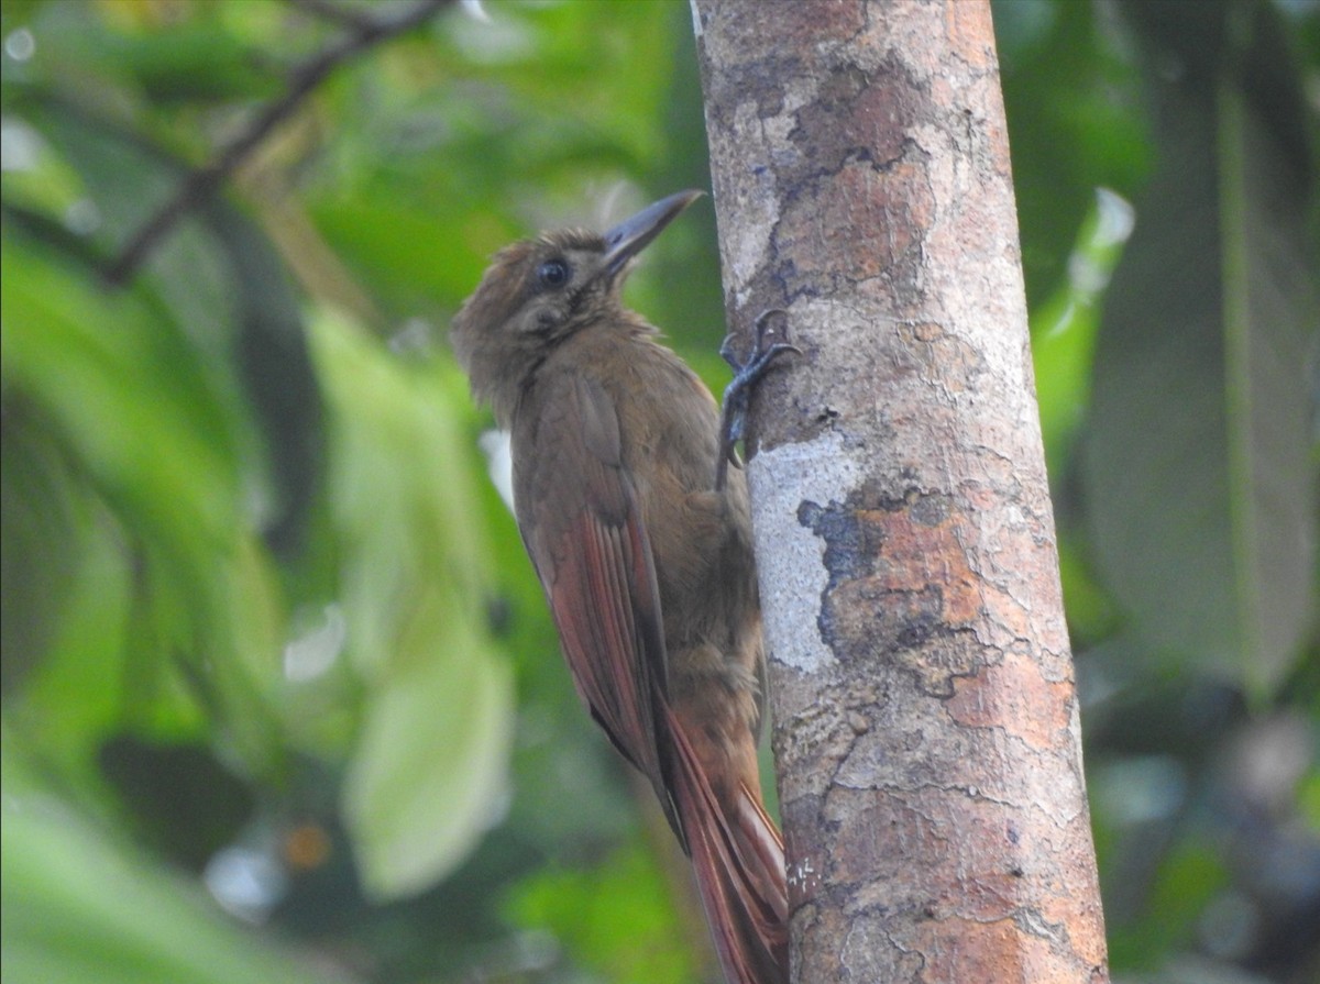
<path id="1" fill-rule="evenodd" d="M 787 981 L 783 844 L 746 787 L 721 805 L 668 704 L 655 562 L 614 404 L 579 375 L 541 385 L 541 414 L 515 417 L 515 501 L 578 694 L 692 855 L 730 984 Z"/>

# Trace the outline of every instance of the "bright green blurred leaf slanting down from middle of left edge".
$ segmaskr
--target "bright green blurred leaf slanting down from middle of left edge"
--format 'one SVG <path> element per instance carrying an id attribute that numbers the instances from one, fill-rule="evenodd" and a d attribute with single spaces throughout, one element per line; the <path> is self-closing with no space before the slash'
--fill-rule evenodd
<path id="1" fill-rule="evenodd" d="M 139 298 L 98 292 L 11 243 L 0 264 L 5 380 L 42 408 L 115 507 L 172 550 L 207 554 L 230 539 L 232 445 L 193 354 Z"/>

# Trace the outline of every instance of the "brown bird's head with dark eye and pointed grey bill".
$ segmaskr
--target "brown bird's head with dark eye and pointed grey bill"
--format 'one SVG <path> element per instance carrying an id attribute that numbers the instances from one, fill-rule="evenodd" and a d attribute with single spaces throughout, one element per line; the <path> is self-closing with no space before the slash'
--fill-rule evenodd
<path id="1" fill-rule="evenodd" d="M 549 348 L 622 310 L 619 290 L 634 257 L 701 194 L 663 198 L 605 233 L 544 232 L 496 253 L 450 332 L 477 397 L 504 419 L 516 388 Z"/>

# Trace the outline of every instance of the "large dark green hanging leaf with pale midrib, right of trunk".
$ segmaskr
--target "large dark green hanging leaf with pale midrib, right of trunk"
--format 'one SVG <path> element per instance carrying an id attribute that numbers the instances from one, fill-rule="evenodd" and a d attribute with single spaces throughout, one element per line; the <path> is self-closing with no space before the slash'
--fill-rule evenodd
<path id="1" fill-rule="evenodd" d="M 1085 463 L 1097 562 L 1138 632 L 1257 692 L 1299 657 L 1316 604 L 1320 272 L 1295 206 L 1311 164 L 1272 129 L 1295 94 L 1266 115 L 1234 69 L 1287 58 L 1269 15 L 1200 5 L 1189 40 L 1152 55 L 1185 71 L 1156 83 L 1162 161 L 1106 297 Z M 1236 58 L 1205 57 L 1225 45 Z"/>

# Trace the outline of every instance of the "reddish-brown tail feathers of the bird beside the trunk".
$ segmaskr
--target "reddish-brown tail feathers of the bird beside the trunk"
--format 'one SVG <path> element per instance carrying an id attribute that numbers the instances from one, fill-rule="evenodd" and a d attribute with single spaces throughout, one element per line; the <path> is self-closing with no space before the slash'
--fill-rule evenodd
<path id="1" fill-rule="evenodd" d="M 759 798 L 742 787 L 726 811 L 682 725 L 675 739 L 673 794 L 719 963 L 730 984 L 788 984 L 784 844 Z"/>

